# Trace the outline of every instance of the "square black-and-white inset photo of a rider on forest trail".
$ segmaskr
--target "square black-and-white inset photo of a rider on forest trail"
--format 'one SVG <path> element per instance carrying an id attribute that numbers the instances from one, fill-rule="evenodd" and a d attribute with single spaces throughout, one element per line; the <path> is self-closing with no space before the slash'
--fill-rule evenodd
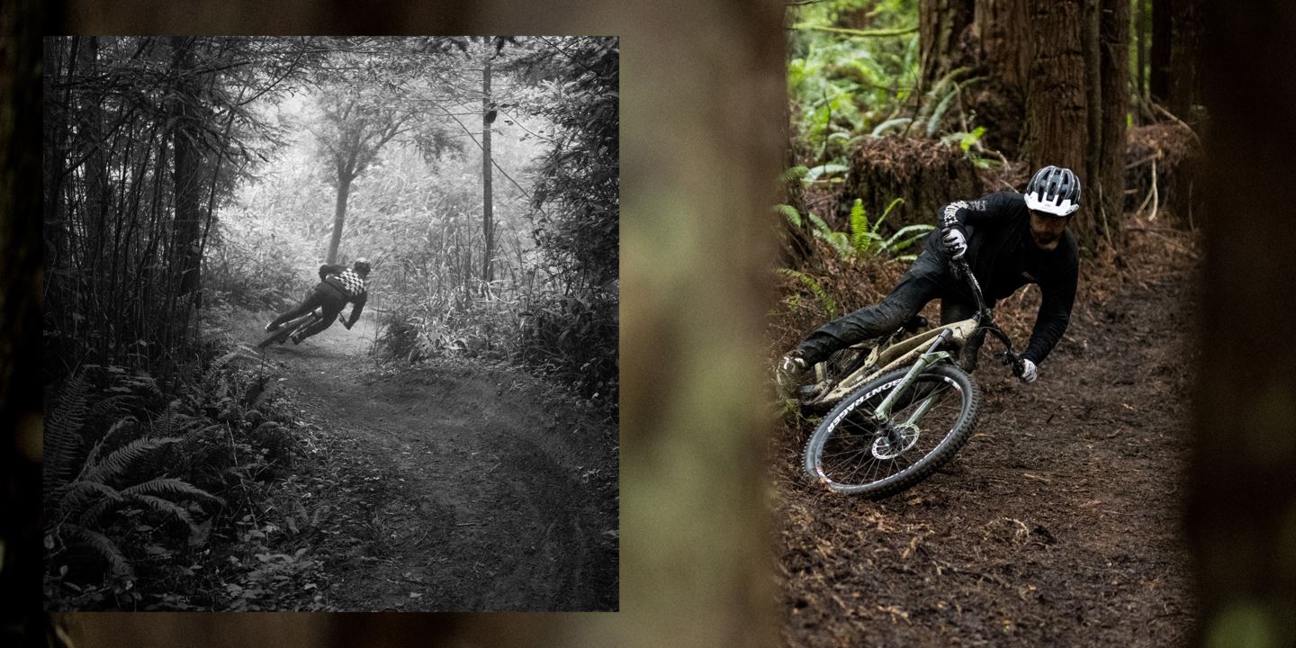
<path id="1" fill-rule="evenodd" d="M 47 609 L 618 609 L 616 38 L 43 47 Z"/>

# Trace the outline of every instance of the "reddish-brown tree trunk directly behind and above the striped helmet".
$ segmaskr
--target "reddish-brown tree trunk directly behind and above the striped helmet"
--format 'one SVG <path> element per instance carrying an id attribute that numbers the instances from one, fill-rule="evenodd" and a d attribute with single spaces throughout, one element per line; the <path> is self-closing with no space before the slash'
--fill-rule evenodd
<path id="1" fill-rule="evenodd" d="M 1064 166 L 1087 188 L 1085 154 L 1089 143 L 1086 109 L 1082 0 L 1038 3 L 1033 6 L 1034 60 L 1026 93 L 1025 157 L 1030 170 Z M 1094 249 L 1093 203 L 1076 213 L 1072 232 L 1081 248 Z"/>

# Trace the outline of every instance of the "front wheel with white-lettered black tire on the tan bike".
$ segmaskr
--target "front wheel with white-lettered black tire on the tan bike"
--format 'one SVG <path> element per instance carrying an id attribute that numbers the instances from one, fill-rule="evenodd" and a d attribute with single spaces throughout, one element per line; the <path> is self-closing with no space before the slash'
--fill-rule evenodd
<path id="1" fill-rule="evenodd" d="M 976 425 L 980 393 L 958 367 L 919 373 L 877 420 L 875 410 L 907 368 L 874 378 L 841 399 L 806 443 L 806 473 L 829 489 L 868 498 L 894 495 L 927 478 L 958 452 Z"/>

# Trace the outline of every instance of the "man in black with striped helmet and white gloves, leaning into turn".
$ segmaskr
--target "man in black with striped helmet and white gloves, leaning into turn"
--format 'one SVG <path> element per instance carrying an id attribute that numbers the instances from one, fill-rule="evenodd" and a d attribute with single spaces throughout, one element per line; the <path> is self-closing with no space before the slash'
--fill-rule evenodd
<path id="1" fill-rule="evenodd" d="M 945 262 L 945 254 L 968 260 L 988 307 L 1025 284 L 1039 285 L 1039 314 L 1021 355 L 1021 380 L 1034 382 L 1039 363 L 1067 330 L 1076 299 L 1078 248 L 1067 224 L 1077 209 L 1080 179 L 1069 168 L 1056 166 L 1037 171 L 1025 194 L 997 192 L 946 205 L 941 210 L 941 228 L 927 237 L 923 253 L 890 294 L 819 327 L 783 356 L 778 371 L 780 388 L 804 385 L 807 369 L 833 351 L 899 329 L 937 297 L 941 324 L 973 316 L 976 305 Z M 976 367 L 981 340 L 977 337 L 966 347 L 963 364 L 969 371 Z"/>

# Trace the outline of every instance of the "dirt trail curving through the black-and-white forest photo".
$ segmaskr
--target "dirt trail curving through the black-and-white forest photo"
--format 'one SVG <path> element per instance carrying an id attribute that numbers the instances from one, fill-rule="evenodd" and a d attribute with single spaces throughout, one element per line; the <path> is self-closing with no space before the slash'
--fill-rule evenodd
<path id="1" fill-rule="evenodd" d="M 319 565 L 279 609 L 617 609 L 616 425 L 507 365 L 380 365 L 373 338 L 362 318 L 266 353 L 306 447 L 302 529 L 272 550 Z"/>

